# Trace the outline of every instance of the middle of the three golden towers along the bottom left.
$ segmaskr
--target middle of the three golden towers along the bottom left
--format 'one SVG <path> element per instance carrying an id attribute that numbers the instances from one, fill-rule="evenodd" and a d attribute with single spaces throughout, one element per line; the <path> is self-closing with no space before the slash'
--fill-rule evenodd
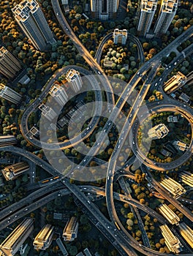
<path id="1" fill-rule="evenodd" d="M 50 246 L 53 238 L 53 229 L 52 225 L 47 224 L 39 231 L 33 242 L 34 249 L 45 250 Z"/>

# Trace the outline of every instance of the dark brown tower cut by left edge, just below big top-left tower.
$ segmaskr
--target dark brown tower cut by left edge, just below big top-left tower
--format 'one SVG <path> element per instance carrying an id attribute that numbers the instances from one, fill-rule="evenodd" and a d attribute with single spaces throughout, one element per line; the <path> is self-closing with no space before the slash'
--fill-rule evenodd
<path id="1" fill-rule="evenodd" d="M 14 78 L 20 71 L 21 65 L 18 59 L 2 46 L 0 48 L 0 73 L 6 78 Z"/>

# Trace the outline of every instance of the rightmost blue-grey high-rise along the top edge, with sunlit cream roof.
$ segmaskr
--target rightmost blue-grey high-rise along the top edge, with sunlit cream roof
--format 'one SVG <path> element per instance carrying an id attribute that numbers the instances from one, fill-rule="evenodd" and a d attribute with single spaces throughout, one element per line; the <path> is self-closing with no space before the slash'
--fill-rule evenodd
<path id="1" fill-rule="evenodd" d="M 173 21 L 175 13 L 178 9 L 178 0 L 163 0 L 161 9 L 159 10 L 159 16 L 156 20 L 154 27 L 154 34 L 159 36 L 165 34 Z"/>

